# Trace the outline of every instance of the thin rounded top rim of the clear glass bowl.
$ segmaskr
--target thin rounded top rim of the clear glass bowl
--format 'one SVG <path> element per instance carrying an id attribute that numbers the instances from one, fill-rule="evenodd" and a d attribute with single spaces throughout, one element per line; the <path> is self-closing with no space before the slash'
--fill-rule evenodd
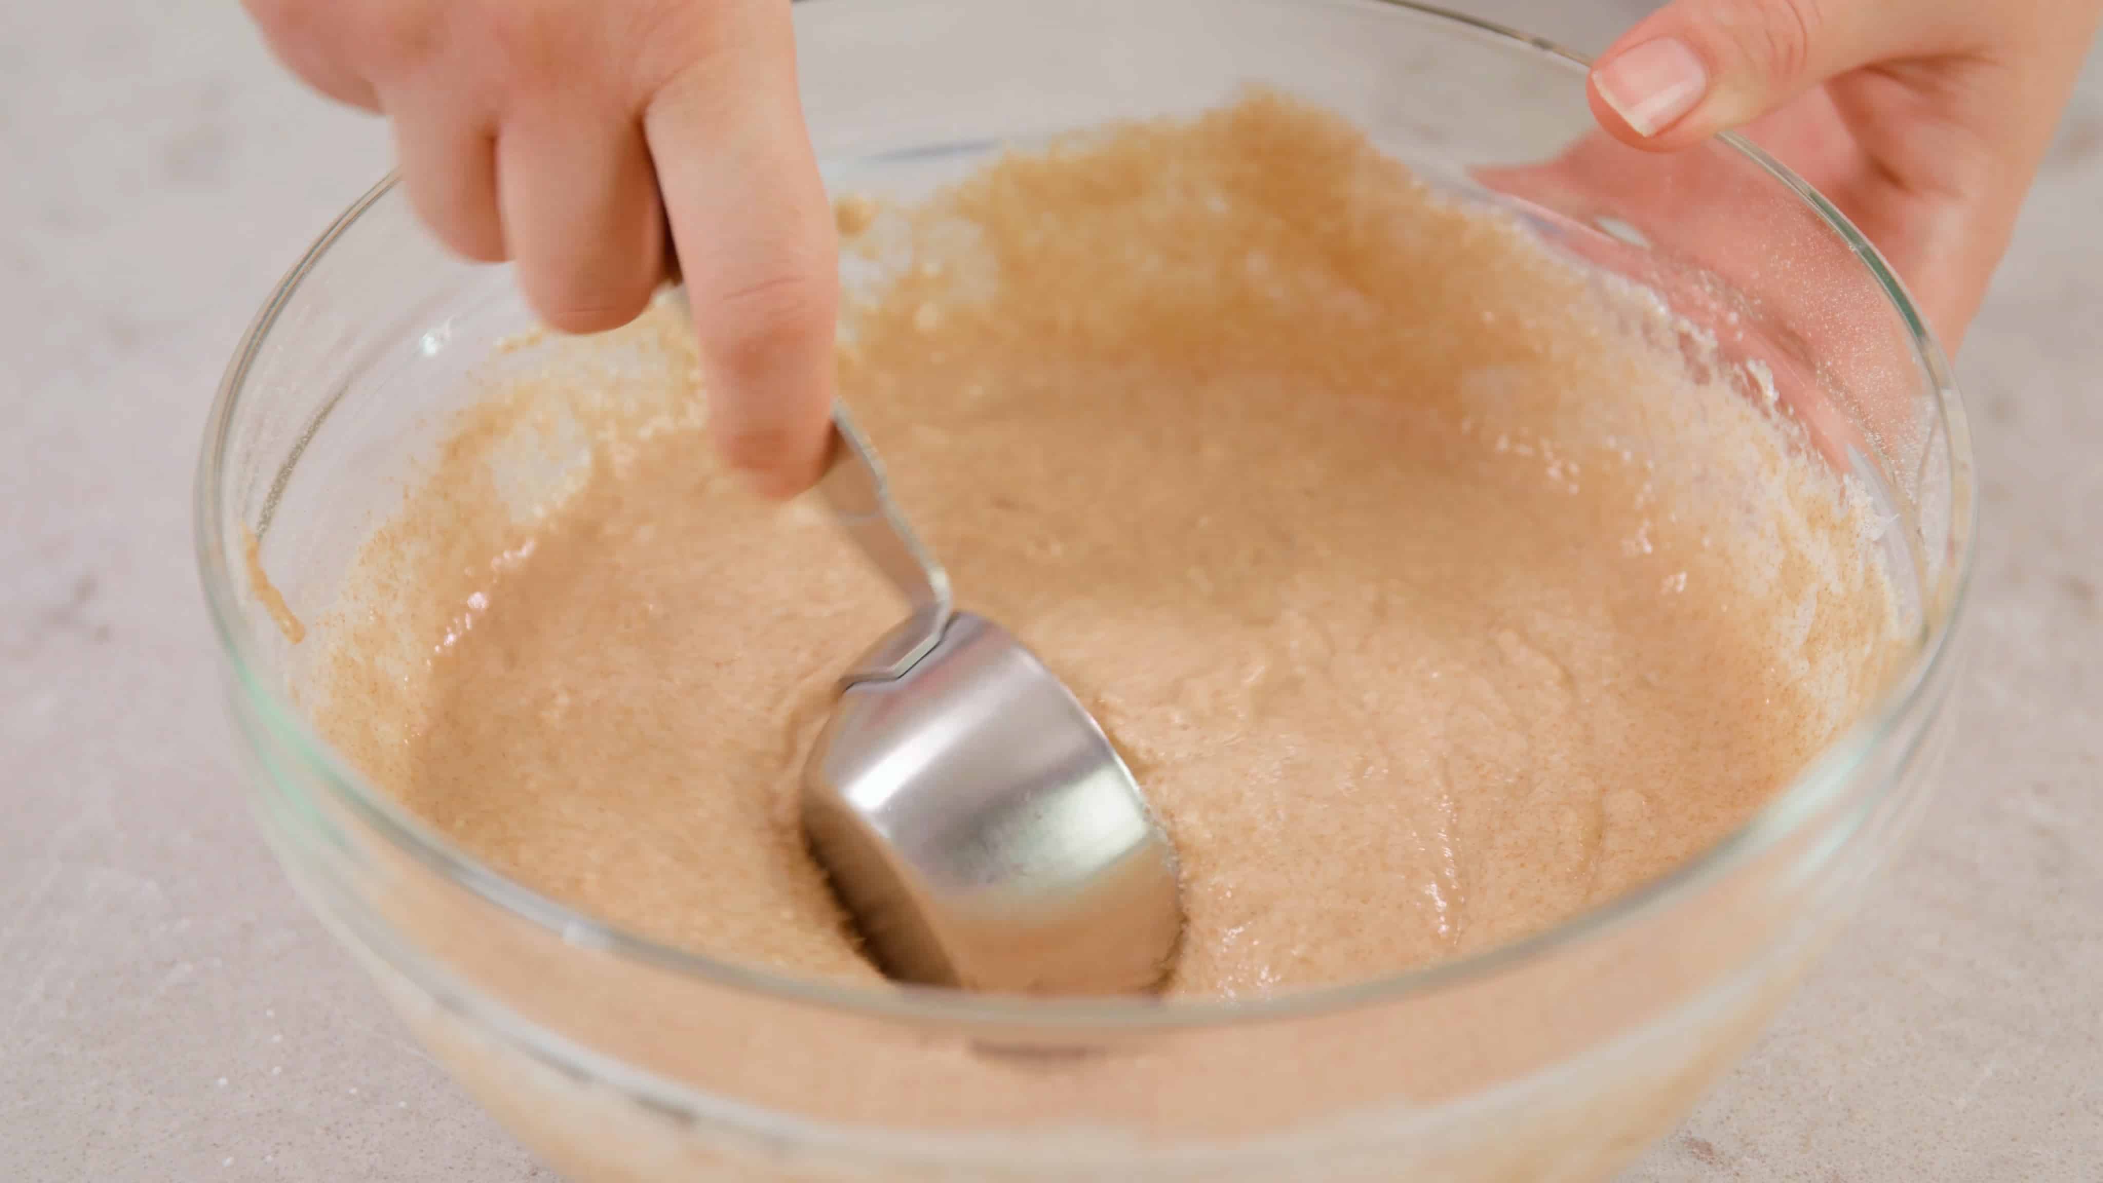
<path id="1" fill-rule="evenodd" d="M 854 4 L 871 0 L 799 0 L 808 6 Z M 1428 23 L 1447 23 L 1453 34 L 1485 36 L 1504 42 L 1512 51 L 1533 51 L 1552 65 L 1569 69 L 1590 69 L 1590 59 L 1571 53 L 1550 40 L 1527 36 L 1495 21 L 1485 21 L 1451 8 L 1420 4 L 1417 0 L 1329 0 L 1335 4 L 1380 6 L 1411 13 Z M 219 528 L 219 507 L 231 425 L 242 410 L 242 394 L 248 373 L 263 349 L 280 314 L 292 303 L 301 282 L 322 261 L 322 257 L 358 223 L 358 219 L 393 192 L 400 177 L 389 173 L 368 189 L 307 248 L 297 265 L 257 312 L 248 330 L 227 364 L 219 383 L 219 394 L 206 419 L 204 453 L 198 461 L 193 488 L 193 528 L 198 568 L 204 581 L 204 596 L 219 636 L 221 650 L 231 663 L 236 682 L 259 709 L 263 720 L 280 737 L 286 737 L 307 768 L 328 791 L 349 808 L 360 821 L 385 836 L 397 853 L 418 865 L 444 876 L 452 884 L 473 893 L 515 918 L 536 924 L 564 943 L 597 949 L 614 958 L 639 962 L 658 970 L 671 970 L 713 985 L 772 996 L 780 1002 L 822 1006 L 831 1010 L 858 1012 L 875 1019 L 1001 1027 L 1001 1029 L 1180 1029 L 1213 1027 L 1228 1023 L 1285 1021 L 1363 1006 L 1398 1002 L 1409 996 L 1432 994 L 1472 979 L 1493 977 L 1508 968 L 1527 964 L 1554 951 L 1634 924 L 1640 918 L 1668 909 L 1676 901 L 1699 893 L 1720 880 L 1731 869 L 1756 859 L 1775 842 L 1788 838 L 1798 823 L 1817 817 L 1853 785 L 1853 773 L 1870 754 L 1886 743 L 1899 741 L 1903 722 L 1924 709 L 1926 688 L 1935 684 L 1941 667 L 1954 661 L 1952 638 L 1968 602 L 1973 549 L 1977 533 L 1977 503 L 1973 497 L 1973 455 L 1964 408 L 1956 392 L 1949 362 L 1920 309 L 1905 293 L 1905 284 L 1888 267 L 1876 246 L 1855 229 L 1838 208 L 1819 196 L 1796 173 L 1771 158 L 1758 145 L 1737 135 L 1718 137 L 1718 143 L 1754 162 L 1794 194 L 1828 229 L 1855 253 L 1870 276 L 1882 288 L 1891 307 L 1899 314 L 1912 337 L 1916 360 L 1935 387 L 1937 415 L 1945 459 L 1949 463 L 1949 566 L 1943 570 L 1941 592 L 1928 589 L 1924 596 L 1924 625 L 1920 648 L 1903 678 L 1895 680 L 1882 701 L 1865 711 L 1855 726 L 1832 743 L 1804 768 L 1794 783 L 1775 794 L 1760 810 L 1745 819 L 1720 842 L 1651 880 L 1636 890 L 1594 905 L 1563 920 L 1541 933 L 1520 937 L 1489 949 L 1420 966 L 1398 975 L 1365 979 L 1344 985 L 1314 987 L 1293 994 L 1255 1000 L 1155 1000 L 1155 998 L 1106 998 L 1106 1000 L 1033 1000 L 1007 996 L 978 996 L 955 989 L 930 987 L 852 987 L 816 979 L 797 979 L 763 968 L 740 966 L 702 954 L 677 949 L 627 933 L 618 926 L 593 920 L 566 903 L 538 895 L 494 869 L 482 865 L 467 853 L 452 846 L 437 831 L 412 817 L 376 785 L 370 785 L 351 768 L 313 726 L 301 718 L 299 709 L 278 695 L 259 674 L 259 657 L 248 623 L 240 613 L 236 564 L 225 547 Z M 326 415 L 326 408 L 322 410 Z M 286 469 L 297 463 L 297 453 L 286 461 Z"/>

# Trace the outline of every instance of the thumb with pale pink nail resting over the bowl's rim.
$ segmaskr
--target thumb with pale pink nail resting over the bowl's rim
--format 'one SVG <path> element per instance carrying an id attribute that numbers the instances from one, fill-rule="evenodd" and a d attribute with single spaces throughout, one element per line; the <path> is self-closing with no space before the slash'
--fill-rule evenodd
<path id="1" fill-rule="evenodd" d="M 1676 0 L 1592 67 L 1592 112 L 1615 139 L 1678 149 L 1743 126 L 1876 61 L 1945 48 L 1949 2 Z"/>

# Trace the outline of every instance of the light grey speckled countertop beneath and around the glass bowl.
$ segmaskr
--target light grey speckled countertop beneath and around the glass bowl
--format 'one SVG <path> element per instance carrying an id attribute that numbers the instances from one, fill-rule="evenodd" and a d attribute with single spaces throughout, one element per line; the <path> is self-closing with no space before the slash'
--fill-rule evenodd
<path id="1" fill-rule="evenodd" d="M 1485 11 L 1588 48 L 1634 4 Z M 547 1181 L 397 1029 L 236 794 L 189 549 L 219 370 L 385 131 L 233 4 L 0 17 L 0 1179 Z M 2103 1179 L 2103 78 L 1960 358 L 1962 733 L 1897 871 L 1642 1183 Z"/>

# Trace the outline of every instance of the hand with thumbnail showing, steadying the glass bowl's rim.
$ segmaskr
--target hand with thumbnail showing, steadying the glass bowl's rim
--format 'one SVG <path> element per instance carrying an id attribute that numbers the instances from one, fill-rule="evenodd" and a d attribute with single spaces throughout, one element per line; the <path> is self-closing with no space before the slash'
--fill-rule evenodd
<path id="1" fill-rule="evenodd" d="M 1891 261 L 1956 352 L 2103 0 L 1674 0 L 1592 69 L 1615 139 L 1743 128 Z"/>

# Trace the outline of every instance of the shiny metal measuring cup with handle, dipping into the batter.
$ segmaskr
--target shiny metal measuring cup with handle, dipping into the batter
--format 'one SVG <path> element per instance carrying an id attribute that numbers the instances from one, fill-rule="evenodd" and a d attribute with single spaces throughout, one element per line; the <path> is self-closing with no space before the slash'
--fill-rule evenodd
<path id="1" fill-rule="evenodd" d="M 803 831 L 896 979 L 1123 994 L 1176 954 L 1176 853 L 1070 690 L 948 575 L 843 406 L 818 493 L 911 615 L 841 680 L 803 764 Z"/>

